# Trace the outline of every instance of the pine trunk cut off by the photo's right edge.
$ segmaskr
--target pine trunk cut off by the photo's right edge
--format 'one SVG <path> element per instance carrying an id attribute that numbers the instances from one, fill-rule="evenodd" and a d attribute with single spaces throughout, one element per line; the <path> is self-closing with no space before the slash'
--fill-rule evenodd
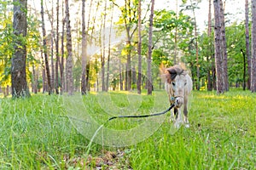
<path id="1" fill-rule="evenodd" d="M 251 92 L 256 92 L 256 0 L 252 0 Z"/>

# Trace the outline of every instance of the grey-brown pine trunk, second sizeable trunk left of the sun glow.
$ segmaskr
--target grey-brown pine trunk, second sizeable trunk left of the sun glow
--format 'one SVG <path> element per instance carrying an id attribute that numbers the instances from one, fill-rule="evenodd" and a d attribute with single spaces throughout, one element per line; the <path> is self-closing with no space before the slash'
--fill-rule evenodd
<path id="1" fill-rule="evenodd" d="M 72 36 L 71 26 L 69 20 L 69 5 L 68 0 L 66 3 L 66 27 L 67 27 L 67 94 L 73 94 L 73 49 L 72 49 Z"/>

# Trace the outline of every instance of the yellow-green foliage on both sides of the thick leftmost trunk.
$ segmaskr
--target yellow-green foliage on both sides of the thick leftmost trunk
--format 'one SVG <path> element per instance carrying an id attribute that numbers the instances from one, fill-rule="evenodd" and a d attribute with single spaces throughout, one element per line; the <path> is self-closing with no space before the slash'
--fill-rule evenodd
<path id="1" fill-rule="evenodd" d="M 11 1 L 0 2 L 0 85 L 2 87 L 10 86 L 10 67 L 11 58 L 14 54 L 15 41 L 26 44 L 27 66 L 26 72 L 30 82 L 31 71 L 29 66 L 38 64 L 39 59 L 36 57 L 40 48 L 40 32 L 38 31 L 39 21 L 35 15 L 27 16 L 27 35 L 26 37 L 13 34 L 13 3 Z"/>

